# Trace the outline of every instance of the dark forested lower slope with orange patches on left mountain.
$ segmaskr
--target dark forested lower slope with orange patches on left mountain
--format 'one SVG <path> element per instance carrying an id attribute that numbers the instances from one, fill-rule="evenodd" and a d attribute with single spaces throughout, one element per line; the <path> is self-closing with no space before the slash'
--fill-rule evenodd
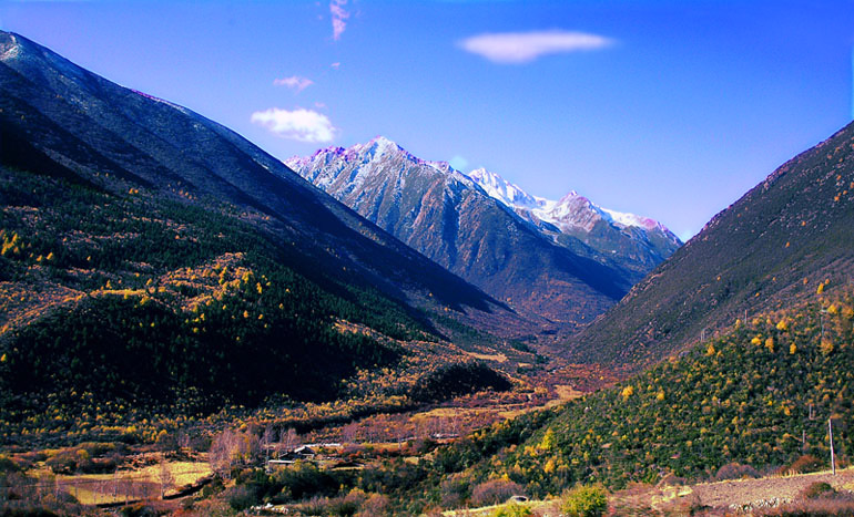
<path id="1" fill-rule="evenodd" d="M 6 407 L 55 409 L 82 392 L 193 412 L 323 399 L 400 353 L 336 320 L 429 338 L 377 291 L 308 279 L 213 209 L 11 169 L 0 200 Z"/>

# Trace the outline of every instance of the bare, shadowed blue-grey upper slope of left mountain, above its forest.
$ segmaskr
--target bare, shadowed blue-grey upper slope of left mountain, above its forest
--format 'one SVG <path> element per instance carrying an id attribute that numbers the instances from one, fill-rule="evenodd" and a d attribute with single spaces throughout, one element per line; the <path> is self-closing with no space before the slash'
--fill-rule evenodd
<path id="1" fill-rule="evenodd" d="M 11 33 L 0 34 L 0 89 L 7 164 L 47 166 L 93 185 L 109 175 L 164 195 L 233 203 L 298 242 L 295 255 L 306 265 L 340 262 L 337 270 L 357 269 L 367 283 L 400 298 L 429 292 L 458 309 L 496 307 L 279 161 L 190 110 L 118 86 Z"/>

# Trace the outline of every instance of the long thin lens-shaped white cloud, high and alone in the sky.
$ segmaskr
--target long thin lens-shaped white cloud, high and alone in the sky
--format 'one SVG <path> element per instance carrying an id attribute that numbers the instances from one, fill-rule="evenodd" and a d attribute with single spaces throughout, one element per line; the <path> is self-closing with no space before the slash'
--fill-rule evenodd
<path id="1" fill-rule="evenodd" d="M 541 55 L 602 49 L 613 44 L 608 38 L 571 31 L 502 32 L 472 35 L 459 46 L 495 63 L 528 63 Z"/>

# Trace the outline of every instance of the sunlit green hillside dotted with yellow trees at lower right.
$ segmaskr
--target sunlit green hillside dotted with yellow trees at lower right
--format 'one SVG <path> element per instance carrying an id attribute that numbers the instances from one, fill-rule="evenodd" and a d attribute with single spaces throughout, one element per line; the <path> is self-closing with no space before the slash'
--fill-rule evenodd
<path id="1" fill-rule="evenodd" d="M 581 482 L 712 478 L 733 463 L 783 472 L 803 455 L 830 467 L 828 418 L 837 459 L 848 464 L 854 291 L 831 286 L 816 288 L 819 301 L 738 320 L 680 359 L 570 402 L 545 425 L 521 418 L 476 434 L 437 465 L 475 480 L 507 476 L 537 496 Z"/>

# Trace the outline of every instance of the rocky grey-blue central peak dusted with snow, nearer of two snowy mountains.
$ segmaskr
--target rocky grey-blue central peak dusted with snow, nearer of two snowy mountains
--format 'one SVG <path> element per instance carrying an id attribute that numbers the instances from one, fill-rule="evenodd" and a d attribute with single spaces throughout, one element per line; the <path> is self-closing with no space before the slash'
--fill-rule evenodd
<path id="1" fill-rule="evenodd" d="M 566 329 L 631 286 L 624 271 L 556 245 L 447 163 L 417 158 L 385 137 L 286 164 L 448 270 Z"/>

